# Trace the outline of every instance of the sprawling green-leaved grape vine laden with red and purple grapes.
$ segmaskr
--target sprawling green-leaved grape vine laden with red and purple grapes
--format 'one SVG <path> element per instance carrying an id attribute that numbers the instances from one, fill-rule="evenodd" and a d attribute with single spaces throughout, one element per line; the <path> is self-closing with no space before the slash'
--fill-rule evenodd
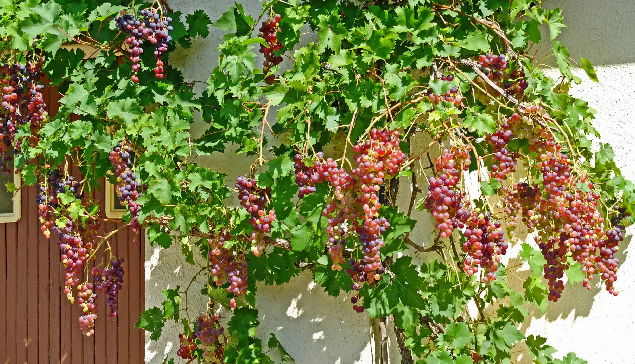
<path id="1" fill-rule="evenodd" d="M 518 330 L 526 306 L 544 312 L 574 284 L 618 295 L 635 185 L 610 145 L 592 145 L 597 113 L 569 93 L 582 80 L 556 40 L 560 10 L 274 0 L 213 20 L 163 0 L 17 0 L 1 11 L 0 169 L 22 177 L 8 190 L 36 189 L 87 337 L 98 295 L 116 317 L 124 270 L 139 269 L 110 247 L 126 229 L 199 269 L 137 322 L 152 340 L 177 323 L 166 355 L 189 362 L 272 363 L 255 334 L 257 283 L 302 270 L 382 328 L 394 318 L 402 363 L 507 362 L 521 342 L 535 363 L 565 363 Z M 188 79 L 184 49 L 208 46 L 210 26 L 226 32 L 218 58 L 196 65 L 211 65 L 207 81 Z M 242 175 L 217 163 L 233 153 L 251 161 Z M 122 218 L 95 198 L 109 183 Z M 517 244 L 531 270 L 516 272 L 519 292 L 507 285 Z M 190 317 L 194 291 L 206 308 Z M 267 344 L 291 358 L 274 334 Z"/>

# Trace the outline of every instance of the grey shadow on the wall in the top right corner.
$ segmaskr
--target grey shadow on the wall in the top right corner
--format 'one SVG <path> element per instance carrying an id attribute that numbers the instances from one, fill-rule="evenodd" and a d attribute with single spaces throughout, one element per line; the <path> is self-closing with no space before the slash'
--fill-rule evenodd
<path id="1" fill-rule="evenodd" d="M 580 56 L 594 65 L 635 63 L 635 2 L 632 0 L 547 0 L 545 8 L 561 8 L 567 28 L 558 41 L 575 62 Z M 549 40 L 547 34 L 543 39 Z"/>

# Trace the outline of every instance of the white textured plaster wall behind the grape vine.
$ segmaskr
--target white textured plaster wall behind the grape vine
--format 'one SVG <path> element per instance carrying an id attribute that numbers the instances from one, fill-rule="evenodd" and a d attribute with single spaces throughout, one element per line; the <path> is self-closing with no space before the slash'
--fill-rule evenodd
<path id="1" fill-rule="evenodd" d="M 203 9 L 215 20 L 225 11 L 227 0 L 171 0 L 170 5 L 182 13 Z M 549 6 L 563 8 L 567 29 L 563 29 L 560 41 L 570 49 L 576 60 L 582 55 L 589 58 L 597 67 L 600 84 L 589 81 L 584 72 L 577 72 L 584 81 L 573 87 L 573 94 L 584 98 L 598 110 L 596 127 L 601 133 L 601 141 L 609 142 L 615 150 L 615 159 L 622 172 L 635 179 L 635 140 L 632 136 L 635 122 L 632 110 L 635 108 L 635 2 L 632 0 L 560 0 L 549 1 Z M 254 16 L 260 10 L 256 0 L 243 1 L 244 9 Z M 211 28 L 207 39 L 194 39 L 192 47 L 182 49 L 172 55 L 170 62 L 184 72 L 186 80 L 206 81 L 215 67 L 218 52 L 217 45 L 223 32 Z M 310 40 L 310 39 L 309 39 Z M 284 62 L 288 62 L 285 60 Z M 288 66 L 288 65 L 287 65 Z M 283 67 L 285 65 L 283 64 Z M 199 91 L 203 86 L 199 86 Z M 274 112 L 270 115 L 275 115 Z M 203 124 L 194 127 L 194 134 L 203 131 Z M 416 152 L 428 140 L 418 138 L 413 143 Z M 598 141 L 596 141 L 597 143 Z M 236 156 L 228 150 L 225 154 L 216 153 L 211 157 L 199 157 L 197 162 L 217 169 L 232 178 L 243 174 L 251 160 Z M 419 181 L 423 180 L 422 178 Z M 472 176 L 474 177 L 474 176 Z M 406 206 L 410 199 L 408 181 L 399 193 L 399 205 Z M 418 220 L 411 238 L 420 245 L 431 241 L 432 223 L 427 212 L 414 211 L 413 218 Z M 635 259 L 629 247 L 630 235 L 620 250 L 620 279 L 618 286 L 622 290 L 618 297 L 603 292 L 599 287 L 587 291 L 581 286 L 567 285 L 561 301 L 551 304 L 546 313 L 540 313 L 535 307 L 528 306 L 530 316 L 521 325 L 526 334 L 540 334 L 548 337 L 548 343 L 558 350 L 556 356 L 575 351 L 578 356 L 590 364 L 633 363 L 635 346 L 630 341 L 635 338 Z M 528 241 L 533 241 L 531 237 Z M 507 256 L 508 266 L 516 266 L 519 246 L 513 247 Z M 417 261 L 429 257 L 417 256 Z M 173 247 L 160 249 L 146 247 L 145 257 L 146 307 L 159 306 L 163 301 L 161 290 L 165 287 L 187 285 L 197 268 L 186 263 L 182 254 Z M 512 288 L 521 291 L 522 282 L 528 276 L 528 266 L 516 266 L 508 270 Z M 193 287 L 201 287 L 203 280 L 195 282 Z M 204 309 L 206 301 L 192 289 L 189 295 L 191 315 L 196 316 Z M 184 303 L 182 303 L 184 304 Z M 359 315 L 351 309 L 346 295 L 337 298 L 328 297 L 319 285 L 312 283 L 310 272 L 304 272 L 291 282 L 276 286 L 258 285 L 257 309 L 260 314 L 260 326 L 257 335 L 264 342 L 269 333 L 276 334 L 284 347 L 298 364 L 328 363 L 377 363 L 374 340 L 377 323 L 365 314 Z M 492 310 L 494 308 L 490 308 Z M 223 315 L 231 315 L 223 313 Z M 374 330 L 373 330 L 374 327 Z M 166 354 L 175 356 L 178 348 L 179 328 L 168 323 L 158 342 L 150 342 L 146 336 L 145 361 L 161 363 Z M 389 344 L 391 363 L 399 363 L 399 352 L 394 344 L 392 322 L 389 322 Z M 514 363 L 530 363 L 525 348 L 518 346 Z M 274 360 L 276 353 L 269 353 Z"/>

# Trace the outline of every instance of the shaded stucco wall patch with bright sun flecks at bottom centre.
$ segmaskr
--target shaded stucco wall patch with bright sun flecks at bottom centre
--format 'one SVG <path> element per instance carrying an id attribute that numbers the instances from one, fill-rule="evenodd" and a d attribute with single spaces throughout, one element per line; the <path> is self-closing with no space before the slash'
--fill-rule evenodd
<path id="1" fill-rule="evenodd" d="M 338 297 L 328 296 L 321 286 L 312 283 L 309 271 L 283 285 L 266 289 L 258 285 L 256 308 L 260 315 L 257 335 L 264 341 L 263 346 L 270 333 L 275 334 L 297 364 L 369 363 L 369 356 L 375 361 L 368 315 L 354 312 L 345 292 Z M 277 359 L 274 351 L 268 354 Z"/>

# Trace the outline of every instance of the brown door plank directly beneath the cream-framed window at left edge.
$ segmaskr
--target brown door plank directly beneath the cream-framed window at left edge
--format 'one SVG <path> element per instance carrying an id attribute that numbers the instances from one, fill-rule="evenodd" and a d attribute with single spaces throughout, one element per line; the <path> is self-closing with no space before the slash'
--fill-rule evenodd
<path id="1" fill-rule="evenodd" d="M 17 363 L 15 332 L 17 306 L 18 224 L 6 223 L 6 363 Z"/>

